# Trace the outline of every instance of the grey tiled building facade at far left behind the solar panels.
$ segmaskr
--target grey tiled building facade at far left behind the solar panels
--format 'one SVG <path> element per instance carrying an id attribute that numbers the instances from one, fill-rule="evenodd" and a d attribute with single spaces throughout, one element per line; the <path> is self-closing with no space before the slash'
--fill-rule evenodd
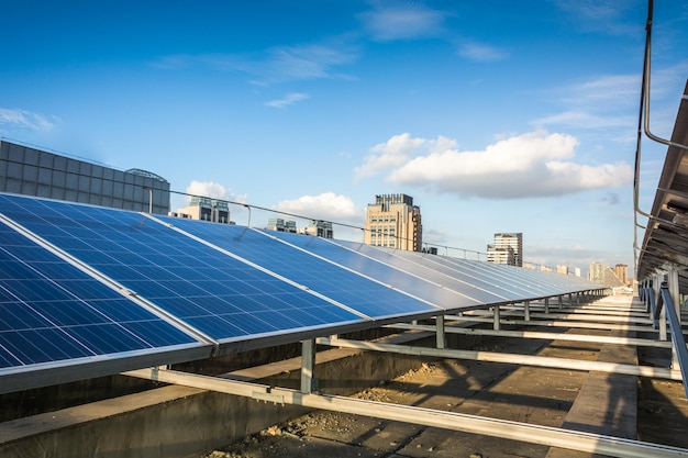
<path id="1" fill-rule="evenodd" d="M 169 182 L 0 141 L 0 192 L 167 214 Z"/>

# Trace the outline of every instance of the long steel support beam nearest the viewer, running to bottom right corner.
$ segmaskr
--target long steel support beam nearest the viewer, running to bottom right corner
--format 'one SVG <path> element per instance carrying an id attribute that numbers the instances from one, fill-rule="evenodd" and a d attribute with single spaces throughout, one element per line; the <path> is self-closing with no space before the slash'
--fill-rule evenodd
<path id="1" fill-rule="evenodd" d="M 276 404 L 293 404 L 310 409 L 365 415 L 395 422 L 412 423 L 451 431 L 481 434 L 491 437 L 540 444 L 550 447 L 601 454 L 617 458 L 674 458 L 688 456 L 688 449 L 643 443 L 599 434 L 540 426 L 508 420 L 435 411 L 411 405 L 302 393 L 296 390 L 268 387 L 208 376 L 157 369 L 125 372 L 126 376 L 177 383 L 197 389 L 218 391 Z"/>

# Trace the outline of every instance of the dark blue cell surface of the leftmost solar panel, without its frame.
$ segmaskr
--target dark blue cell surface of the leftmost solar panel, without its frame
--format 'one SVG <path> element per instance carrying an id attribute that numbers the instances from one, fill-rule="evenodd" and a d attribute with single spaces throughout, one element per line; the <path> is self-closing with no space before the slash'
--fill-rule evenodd
<path id="1" fill-rule="evenodd" d="M 0 224 L 0 371 L 198 344 Z"/>

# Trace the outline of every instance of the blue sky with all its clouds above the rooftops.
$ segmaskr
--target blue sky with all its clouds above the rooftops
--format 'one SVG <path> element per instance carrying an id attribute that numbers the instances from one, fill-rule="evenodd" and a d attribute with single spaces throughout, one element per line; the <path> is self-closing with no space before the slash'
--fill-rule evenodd
<path id="1" fill-rule="evenodd" d="M 688 76 L 688 4 L 655 3 L 651 119 L 668 137 Z M 407 193 L 424 242 L 450 247 L 440 253 L 522 232 L 526 261 L 632 270 L 646 8 L 4 2 L 0 136 L 356 226 L 376 194 Z M 643 144 L 642 210 L 665 153 Z M 254 211 L 251 223 L 270 216 Z M 362 239 L 336 225 L 335 236 Z"/>

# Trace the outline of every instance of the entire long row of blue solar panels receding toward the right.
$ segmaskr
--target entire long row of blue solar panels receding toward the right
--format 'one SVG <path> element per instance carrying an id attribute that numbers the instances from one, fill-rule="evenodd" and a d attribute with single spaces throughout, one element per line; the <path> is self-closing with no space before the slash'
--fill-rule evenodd
<path id="1" fill-rule="evenodd" d="M 510 266 L 1 193 L 0 243 L 0 392 L 27 380 L 8 375 L 68 381 L 596 289 Z M 75 365 L 88 370 L 65 375 Z"/>

